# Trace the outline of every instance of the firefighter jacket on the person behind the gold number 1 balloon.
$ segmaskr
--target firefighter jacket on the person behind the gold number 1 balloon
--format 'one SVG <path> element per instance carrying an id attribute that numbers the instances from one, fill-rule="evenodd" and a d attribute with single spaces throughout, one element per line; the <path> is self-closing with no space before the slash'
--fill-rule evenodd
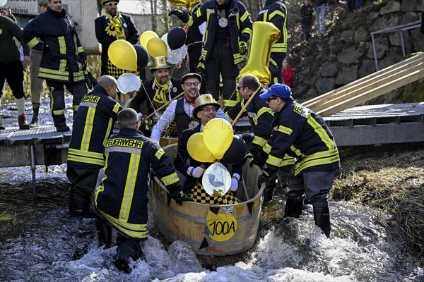
<path id="1" fill-rule="evenodd" d="M 276 61 L 282 61 L 287 53 L 287 9 L 281 0 L 267 0 L 257 20 L 273 23 L 281 31 L 280 39 L 271 47 L 270 63 L 277 66 Z"/>

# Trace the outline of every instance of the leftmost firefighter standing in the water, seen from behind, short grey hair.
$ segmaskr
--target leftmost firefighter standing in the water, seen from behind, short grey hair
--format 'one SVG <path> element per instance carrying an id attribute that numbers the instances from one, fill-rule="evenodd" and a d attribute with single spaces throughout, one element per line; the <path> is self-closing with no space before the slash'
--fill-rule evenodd
<path id="1" fill-rule="evenodd" d="M 100 168 L 105 166 L 105 141 L 110 137 L 118 111 L 113 97 L 117 80 L 103 75 L 78 108 L 73 119 L 68 149 L 66 176 L 71 182 L 69 210 L 72 216 L 88 216 L 90 194 L 95 188 Z"/>

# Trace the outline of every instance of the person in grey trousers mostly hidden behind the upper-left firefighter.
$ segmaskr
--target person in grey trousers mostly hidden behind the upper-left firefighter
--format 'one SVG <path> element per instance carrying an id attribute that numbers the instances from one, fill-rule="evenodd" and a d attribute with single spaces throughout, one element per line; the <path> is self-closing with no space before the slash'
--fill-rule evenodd
<path id="1" fill-rule="evenodd" d="M 47 11 L 49 2 L 47 0 L 38 0 L 38 6 L 40 7 L 40 13 L 44 13 Z M 30 58 L 31 101 L 33 102 L 33 118 L 31 119 L 30 128 L 37 128 L 39 125 L 38 114 L 40 113 L 42 83 L 44 82 L 44 80 L 38 78 L 42 51 L 31 49 Z"/>

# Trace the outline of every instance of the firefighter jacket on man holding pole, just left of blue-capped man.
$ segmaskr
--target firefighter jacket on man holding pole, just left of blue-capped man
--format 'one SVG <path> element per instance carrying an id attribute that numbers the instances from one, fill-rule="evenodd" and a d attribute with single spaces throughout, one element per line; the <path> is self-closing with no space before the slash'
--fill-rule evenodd
<path id="1" fill-rule="evenodd" d="M 242 116 L 249 117 L 250 125 L 252 126 L 254 139 L 249 147 L 249 152 L 253 155 L 256 155 L 265 146 L 272 131 L 273 112 L 269 109 L 265 99 L 259 97 L 260 94 L 265 92 L 266 90 L 260 87 L 242 114 Z M 253 94 L 251 94 L 251 97 Z M 246 102 L 247 100 L 243 99 L 225 113 L 231 122 L 237 117 Z"/>

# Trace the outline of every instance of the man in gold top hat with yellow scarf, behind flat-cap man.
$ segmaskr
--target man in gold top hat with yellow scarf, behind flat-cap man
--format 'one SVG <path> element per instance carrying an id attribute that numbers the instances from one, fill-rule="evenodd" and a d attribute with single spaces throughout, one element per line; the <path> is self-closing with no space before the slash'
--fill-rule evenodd
<path id="1" fill-rule="evenodd" d="M 150 71 L 153 73 L 153 80 L 146 80 L 143 83 L 143 87 L 141 87 L 131 102 L 129 102 L 129 107 L 141 113 L 141 104 L 145 103 L 148 115 L 155 113 L 151 118 L 153 124 L 155 124 L 160 116 L 162 116 L 166 106 L 159 111 L 156 110 L 182 93 L 182 87 L 179 80 L 170 78 L 170 66 L 167 64 L 164 56 L 153 58 Z M 171 136 L 175 136 L 177 134 L 177 127 L 175 124 L 171 126 L 172 129 L 168 128 L 168 130 L 170 130 Z"/>

